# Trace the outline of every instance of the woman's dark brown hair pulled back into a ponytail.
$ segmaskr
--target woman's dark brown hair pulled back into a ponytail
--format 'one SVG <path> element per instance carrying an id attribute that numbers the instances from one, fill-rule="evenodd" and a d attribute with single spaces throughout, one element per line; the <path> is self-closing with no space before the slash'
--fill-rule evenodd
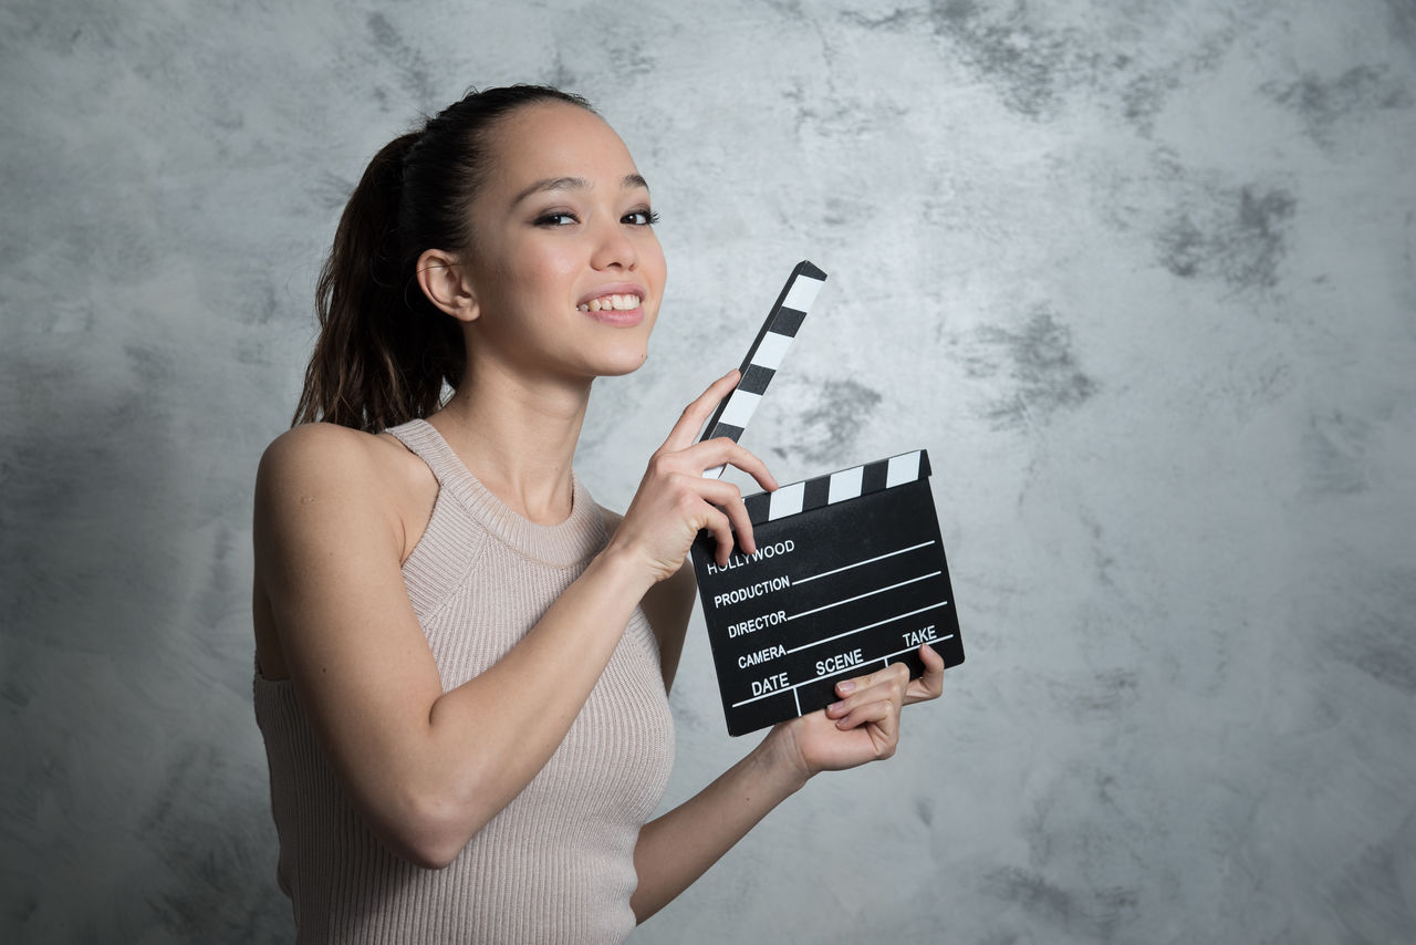
<path id="1" fill-rule="evenodd" d="M 418 286 L 426 249 L 472 248 L 467 208 L 487 174 L 489 132 L 537 102 L 595 111 L 547 85 L 472 91 L 370 162 L 320 271 L 320 336 L 293 424 L 377 432 L 428 417 L 467 370 L 460 323 Z"/>

